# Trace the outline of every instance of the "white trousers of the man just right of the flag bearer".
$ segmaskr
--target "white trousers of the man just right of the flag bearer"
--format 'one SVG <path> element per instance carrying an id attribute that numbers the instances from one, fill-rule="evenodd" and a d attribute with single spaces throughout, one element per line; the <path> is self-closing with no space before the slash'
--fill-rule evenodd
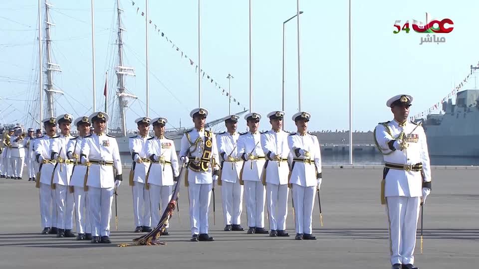
<path id="1" fill-rule="evenodd" d="M 241 224 L 243 186 L 240 185 L 240 181 L 237 180 L 235 183 L 223 181 L 221 196 L 225 225 Z"/>

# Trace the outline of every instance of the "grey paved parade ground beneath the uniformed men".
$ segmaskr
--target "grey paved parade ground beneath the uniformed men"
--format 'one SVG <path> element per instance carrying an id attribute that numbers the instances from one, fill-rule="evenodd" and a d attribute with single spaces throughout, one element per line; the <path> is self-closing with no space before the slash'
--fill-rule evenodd
<path id="1" fill-rule="evenodd" d="M 387 219 L 379 202 L 382 170 L 375 167 L 326 168 L 321 189 L 324 227 L 314 210 L 317 241 L 295 241 L 224 232 L 221 195 L 216 193 L 210 234 L 215 242 L 191 243 L 188 199 L 180 194 L 180 217 L 174 215 L 167 246 L 118 248 L 131 242 L 131 190 L 118 197 L 119 228 L 111 245 L 92 245 L 40 235 L 38 190 L 26 180 L 0 180 L 0 268 L 390 268 Z M 476 268 L 479 261 L 479 170 L 477 167 L 433 170 L 433 190 L 425 207 L 424 254 L 416 248 L 421 269 Z M 127 183 L 126 181 L 124 183 Z M 113 208 L 114 210 L 114 208 Z M 114 211 L 113 211 L 114 212 Z M 243 226 L 246 217 L 243 210 Z M 291 209 L 287 229 L 294 234 Z M 112 230 L 115 230 L 114 218 Z M 267 228 L 267 226 L 266 226 Z M 418 240 L 419 242 L 419 240 Z"/>

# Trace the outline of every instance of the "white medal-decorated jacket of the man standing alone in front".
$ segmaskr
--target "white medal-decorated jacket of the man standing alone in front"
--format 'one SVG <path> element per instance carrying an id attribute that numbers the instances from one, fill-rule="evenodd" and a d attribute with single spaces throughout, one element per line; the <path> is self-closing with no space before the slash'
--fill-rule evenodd
<path id="1" fill-rule="evenodd" d="M 414 130 L 414 131 L 413 131 Z M 396 139 L 401 132 L 407 135 L 409 146 L 406 150 L 391 150 L 388 142 Z M 394 164 L 422 164 L 422 172 L 389 169 L 386 175 L 384 195 L 421 197 L 422 185 L 431 181 L 431 166 L 426 142 L 426 134 L 422 126 L 407 122 L 404 126 L 392 120 L 379 124 L 375 129 L 378 147 L 384 154 L 384 161 Z M 393 146 L 397 147 L 396 141 Z"/>

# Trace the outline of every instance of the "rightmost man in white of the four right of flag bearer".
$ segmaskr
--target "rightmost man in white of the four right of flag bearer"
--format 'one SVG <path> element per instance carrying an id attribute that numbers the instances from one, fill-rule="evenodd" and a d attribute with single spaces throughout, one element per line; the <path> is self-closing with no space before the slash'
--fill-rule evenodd
<path id="1" fill-rule="evenodd" d="M 297 132 L 288 135 L 291 174 L 289 184 L 295 210 L 296 240 L 316 240 L 312 235 L 312 216 L 316 189 L 322 181 L 321 152 L 316 135 L 309 134 L 311 114 L 298 112 L 292 117 Z"/>

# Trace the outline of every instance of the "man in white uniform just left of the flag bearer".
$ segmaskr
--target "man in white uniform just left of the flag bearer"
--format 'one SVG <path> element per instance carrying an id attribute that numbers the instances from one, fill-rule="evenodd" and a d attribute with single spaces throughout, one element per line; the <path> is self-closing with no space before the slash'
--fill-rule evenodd
<path id="1" fill-rule="evenodd" d="M 146 156 L 151 161 L 151 168 L 148 174 L 148 187 L 151 201 L 151 221 L 157 227 L 164 210 L 172 197 L 173 179 L 178 177 L 178 157 L 176 155 L 175 143 L 172 139 L 165 137 L 165 125 L 168 119 L 164 117 L 155 118 L 152 121 L 155 136 L 146 142 Z M 178 183 L 177 183 L 178 184 Z M 160 208 L 158 207 L 160 205 Z M 170 235 L 167 223 L 161 235 Z"/>

